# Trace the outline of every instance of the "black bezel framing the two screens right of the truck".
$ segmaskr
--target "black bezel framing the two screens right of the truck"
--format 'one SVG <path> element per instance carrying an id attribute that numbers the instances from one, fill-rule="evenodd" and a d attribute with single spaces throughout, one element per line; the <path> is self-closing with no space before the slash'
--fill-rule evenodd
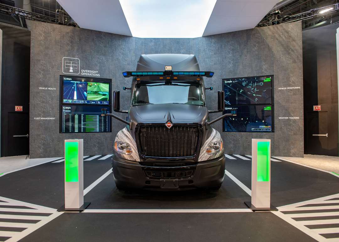
<path id="1" fill-rule="evenodd" d="M 222 119 L 222 132 L 225 133 L 274 133 L 274 75 L 264 75 L 264 76 L 247 76 L 247 77 L 234 77 L 234 78 L 223 78 L 222 79 L 222 90 L 224 90 L 224 80 L 230 80 L 230 79 L 241 79 L 241 78 L 256 78 L 256 77 L 271 77 L 271 97 L 272 97 L 272 103 L 265 103 L 265 104 L 242 104 L 242 105 L 225 105 L 225 108 L 231 108 L 231 107 L 239 107 L 239 106 L 262 106 L 262 105 L 272 105 L 272 130 L 271 131 L 225 131 L 225 118 Z M 225 96 L 224 96 L 224 102 L 225 102 Z M 226 109 L 225 109 L 226 110 Z M 222 114 L 225 114 L 226 111 L 223 111 Z"/>

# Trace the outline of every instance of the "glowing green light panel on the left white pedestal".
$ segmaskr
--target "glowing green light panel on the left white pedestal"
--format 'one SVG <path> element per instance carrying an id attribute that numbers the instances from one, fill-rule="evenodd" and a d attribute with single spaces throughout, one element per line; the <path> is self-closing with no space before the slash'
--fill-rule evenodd
<path id="1" fill-rule="evenodd" d="M 79 181 L 79 144 L 65 143 L 65 182 Z"/>

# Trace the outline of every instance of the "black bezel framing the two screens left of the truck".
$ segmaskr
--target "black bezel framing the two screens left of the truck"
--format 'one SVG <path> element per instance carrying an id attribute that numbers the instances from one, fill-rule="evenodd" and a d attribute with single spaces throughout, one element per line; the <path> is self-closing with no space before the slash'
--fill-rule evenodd
<path id="1" fill-rule="evenodd" d="M 108 93 L 108 105 L 107 104 L 76 104 L 76 103 L 63 103 L 63 77 L 70 78 L 81 78 L 81 79 L 91 79 L 93 81 L 90 82 L 99 82 L 99 83 L 107 83 L 109 85 L 109 93 Z M 60 93 L 59 93 L 59 133 L 69 134 L 69 133 L 112 133 L 112 119 L 109 118 L 109 131 L 107 132 L 62 132 L 62 106 L 86 106 L 86 107 L 109 107 L 110 112 L 112 112 L 112 79 L 105 78 L 88 78 L 82 76 L 66 76 L 60 75 Z"/>

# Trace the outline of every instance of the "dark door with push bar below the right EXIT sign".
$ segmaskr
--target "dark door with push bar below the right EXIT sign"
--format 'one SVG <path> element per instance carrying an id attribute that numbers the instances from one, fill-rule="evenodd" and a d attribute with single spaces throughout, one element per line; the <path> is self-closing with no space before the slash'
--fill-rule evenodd
<path id="1" fill-rule="evenodd" d="M 328 114 L 307 112 L 307 154 L 328 155 Z"/>

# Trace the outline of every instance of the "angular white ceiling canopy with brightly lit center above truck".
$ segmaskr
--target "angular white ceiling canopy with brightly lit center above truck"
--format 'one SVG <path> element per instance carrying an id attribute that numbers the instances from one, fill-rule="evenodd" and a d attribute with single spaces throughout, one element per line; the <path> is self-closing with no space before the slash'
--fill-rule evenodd
<path id="1" fill-rule="evenodd" d="M 252 29 L 278 0 L 58 0 L 84 29 L 195 38 Z"/>

